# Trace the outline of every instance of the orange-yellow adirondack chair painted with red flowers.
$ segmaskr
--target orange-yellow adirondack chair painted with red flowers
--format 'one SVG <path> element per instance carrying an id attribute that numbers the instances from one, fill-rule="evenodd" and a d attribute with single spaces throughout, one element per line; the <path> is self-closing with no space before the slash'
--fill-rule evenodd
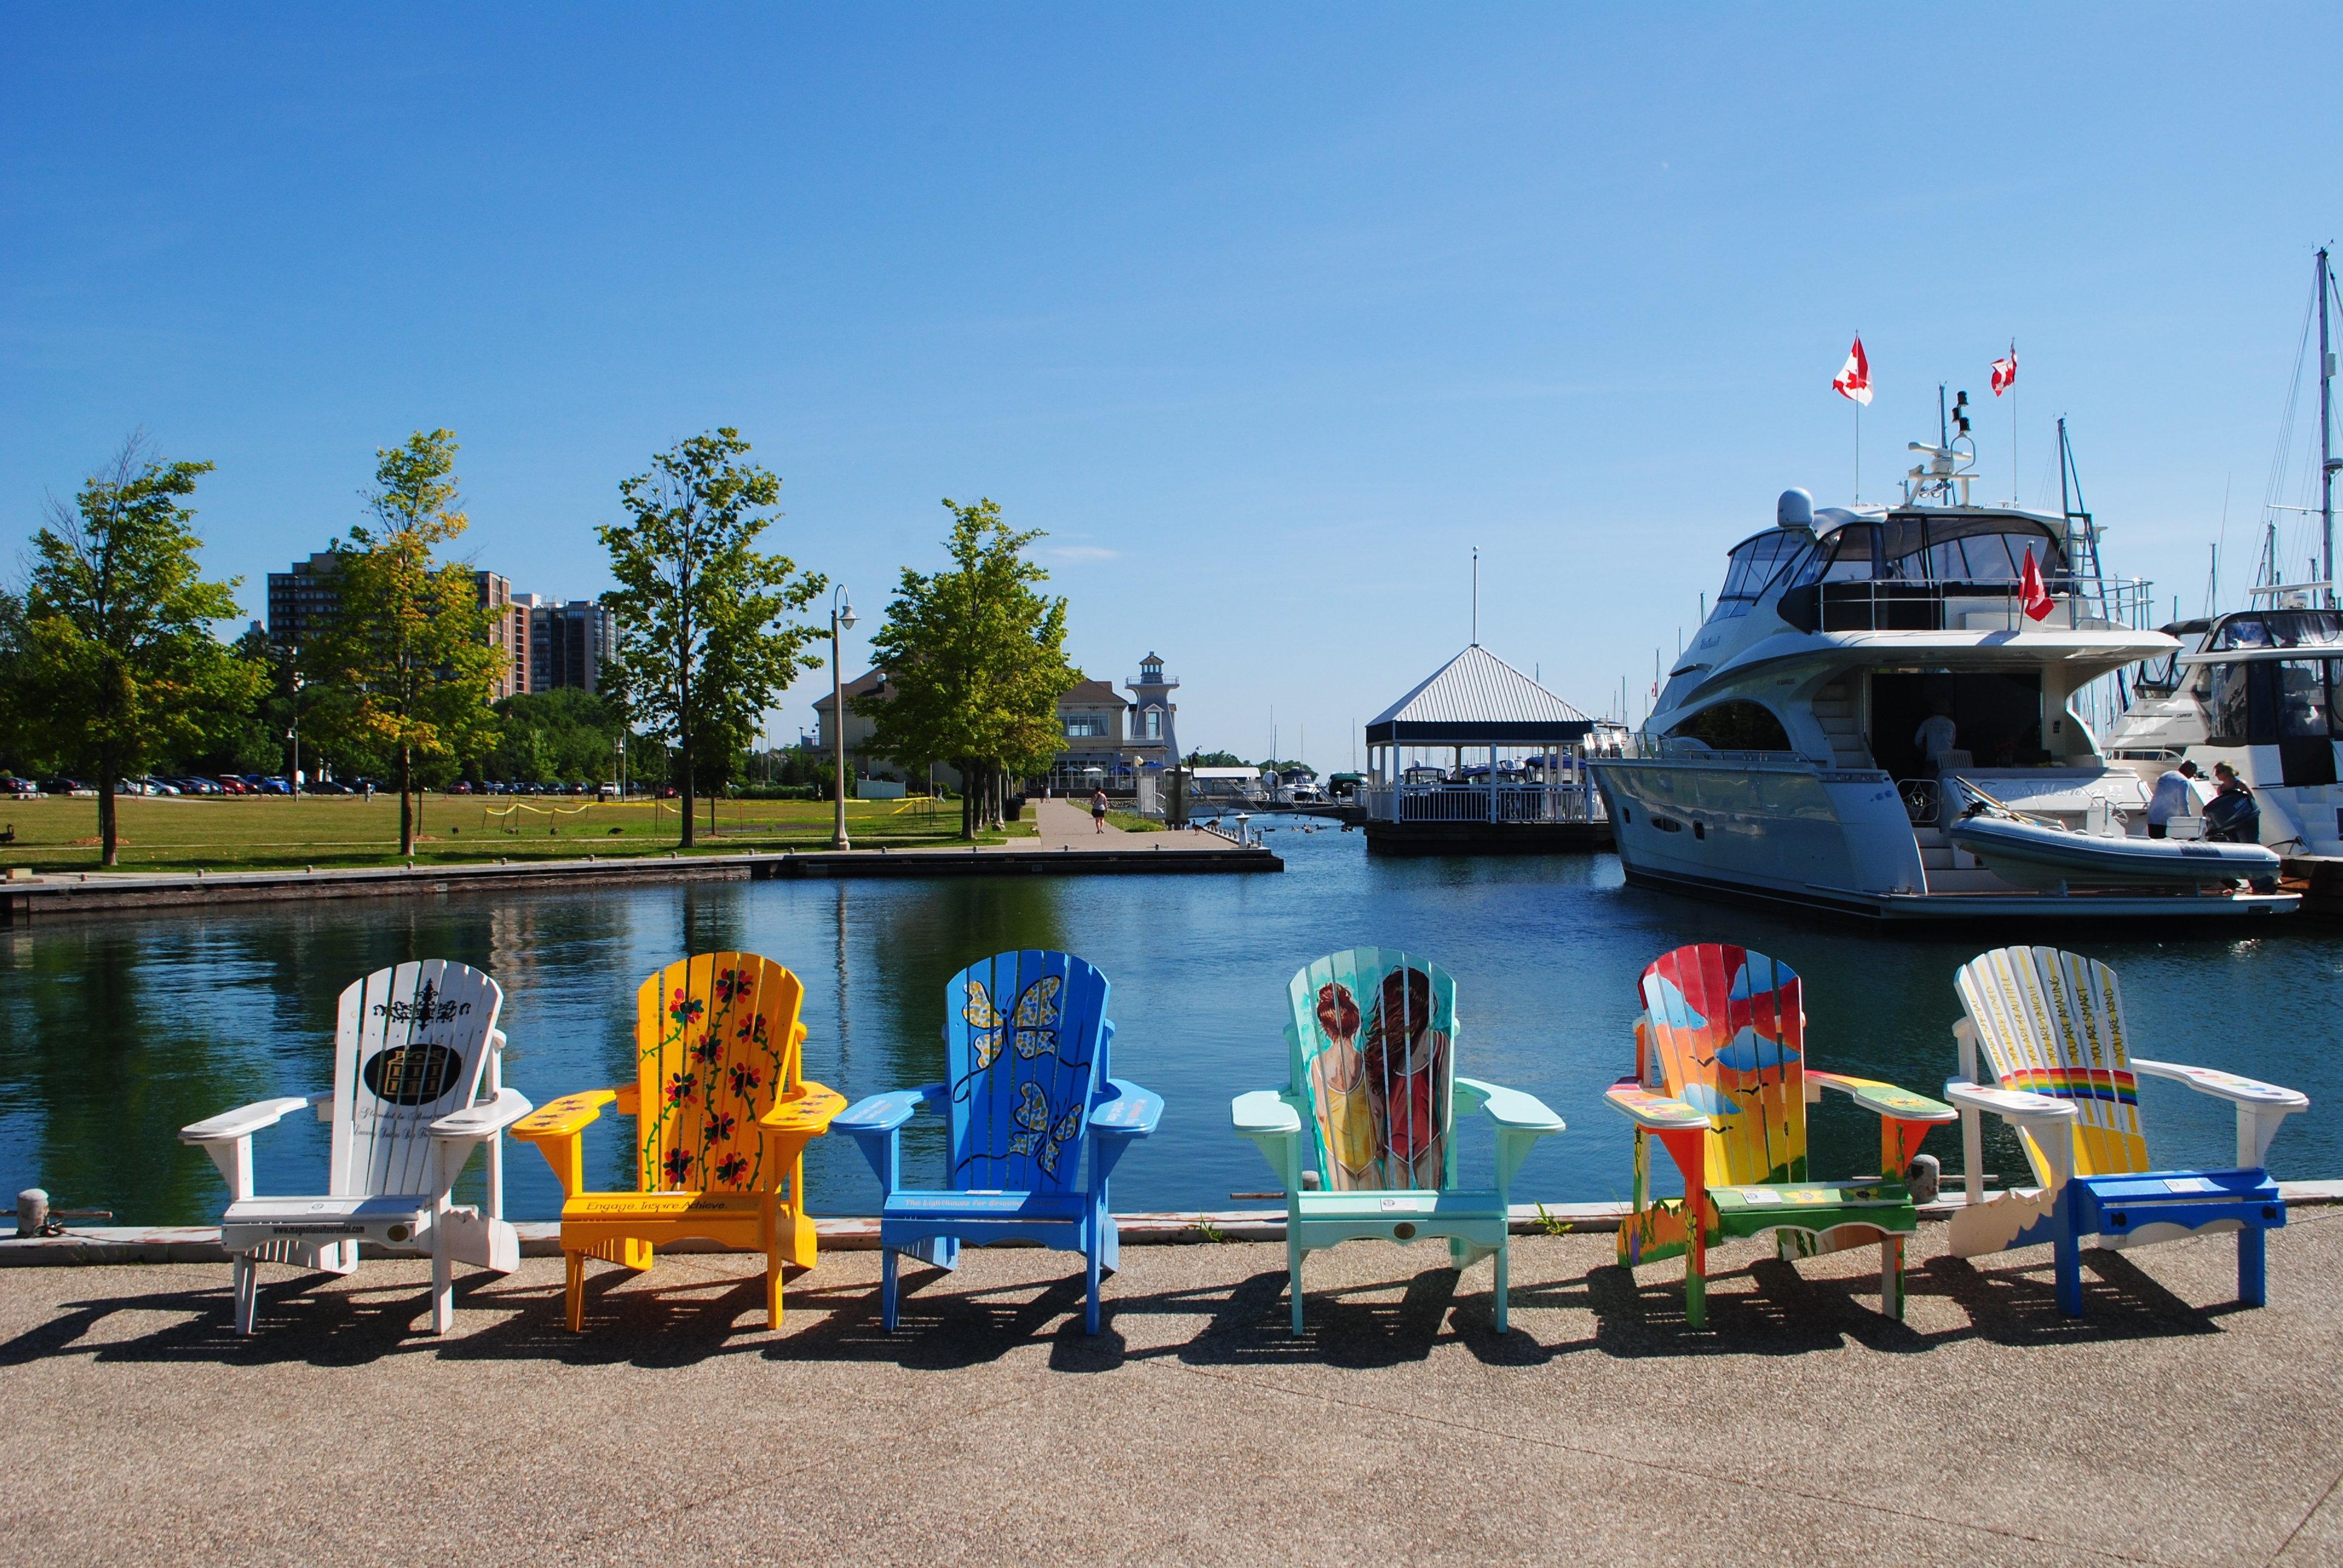
<path id="1" fill-rule="evenodd" d="M 846 1097 L 799 1073 L 804 987 L 757 954 L 698 954 L 635 994 L 635 1083 L 565 1095 L 513 1127 L 562 1184 L 569 1329 L 586 1327 L 586 1259 L 649 1268 L 658 1245 L 705 1238 L 764 1254 L 766 1327 L 783 1263 L 813 1268 L 806 1144 Z M 633 1193 L 586 1191 L 586 1127 L 635 1118 Z"/>

